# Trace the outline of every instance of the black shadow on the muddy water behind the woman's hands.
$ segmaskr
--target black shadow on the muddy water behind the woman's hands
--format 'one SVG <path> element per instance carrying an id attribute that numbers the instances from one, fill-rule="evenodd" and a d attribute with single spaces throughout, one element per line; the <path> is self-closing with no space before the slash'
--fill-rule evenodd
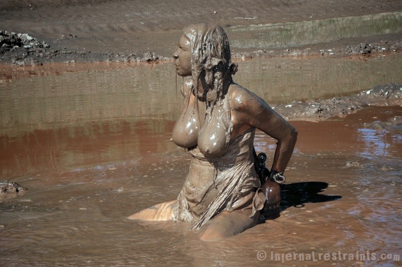
<path id="1" fill-rule="evenodd" d="M 280 210 L 284 211 L 289 207 L 303 208 L 305 203 L 321 203 L 334 201 L 342 196 L 330 196 L 320 194 L 328 187 L 325 182 L 302 182 L 281 185 L 280 190 Z M 264 213 L 266 220 L 276 219 L 280 213 Z"/>

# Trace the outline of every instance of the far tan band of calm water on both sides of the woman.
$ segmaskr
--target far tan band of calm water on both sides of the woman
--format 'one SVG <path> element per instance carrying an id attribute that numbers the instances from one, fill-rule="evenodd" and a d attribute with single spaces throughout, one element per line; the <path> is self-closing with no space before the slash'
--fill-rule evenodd
<path id="1" fill-rule="evenodd" d="M 36 76 L 43 73 L 26 67 L 30 71 L 20 73 L 26 77 L 0 83 L 0 132 L 15 137 L 34 129 L 85 127 L 90 121 L 174 120 L 181 108 L 170 62 L 107 70 L 77 65 L 81 71 L 48 76 Z M 401 54 L 364 59 L 258 58 L 239 61 L 234 79 L 269 104 L 289 103 L 400 83 L 401 65 Z M 180 77 L 177 83 L 179 87 Z M 152 127 L 164 129 L 157 123 Z"/>

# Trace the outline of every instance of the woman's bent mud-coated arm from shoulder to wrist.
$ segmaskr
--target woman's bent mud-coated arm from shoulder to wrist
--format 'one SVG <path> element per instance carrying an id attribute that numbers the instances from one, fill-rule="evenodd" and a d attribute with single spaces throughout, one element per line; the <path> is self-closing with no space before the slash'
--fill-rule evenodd
<path id="1" fill-rule="evenodd" d="M 231 97 L 232 119 L 239 131 L 256 127 L 278 141 L 271 170 L 283 172 L 293 153 L 297 131 L 260 97 L 236 86 Z"/>

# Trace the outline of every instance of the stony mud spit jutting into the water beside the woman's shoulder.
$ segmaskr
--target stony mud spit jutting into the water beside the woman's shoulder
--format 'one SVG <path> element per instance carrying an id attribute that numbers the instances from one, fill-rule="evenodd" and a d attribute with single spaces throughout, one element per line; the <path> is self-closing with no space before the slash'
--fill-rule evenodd
<path id="1" fill-rule="evenodd" d="M 364 106 L 402 105 L 402 84 L 376 85 L 356 95 L 275 105 L 274 110 L 291 120 L 319 121 L 345 117 Z"/>

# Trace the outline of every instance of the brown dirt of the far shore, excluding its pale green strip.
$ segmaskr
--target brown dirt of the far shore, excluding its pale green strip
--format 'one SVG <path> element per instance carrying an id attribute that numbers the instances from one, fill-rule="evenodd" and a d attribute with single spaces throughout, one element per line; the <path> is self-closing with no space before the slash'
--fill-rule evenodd
<path id="1" fill-rule="evenodd" d="M 7 0 L 0 3 L 0 10 L 0 30 L 28 34 L 40 44 L 5 46 L 0 49 L 0 63 L 37 65 L 166 59 L 181 29 L 191 23 L 213 22 L 230 28 L 306 22 L 400 11 L 402 2 L 351 0 L 339 5 L 324 0 L 235 0 L 199 5 L 195 1 Z M 6 37 L 2 35 L 4 41 Z M 329 47 L 334 55 L 393 52 L 402 50 L 401 37 L 402 34 L 385 34 L 273 50 L 234 48 L 232 53 L 237 57 L 323 55 Z"/>

